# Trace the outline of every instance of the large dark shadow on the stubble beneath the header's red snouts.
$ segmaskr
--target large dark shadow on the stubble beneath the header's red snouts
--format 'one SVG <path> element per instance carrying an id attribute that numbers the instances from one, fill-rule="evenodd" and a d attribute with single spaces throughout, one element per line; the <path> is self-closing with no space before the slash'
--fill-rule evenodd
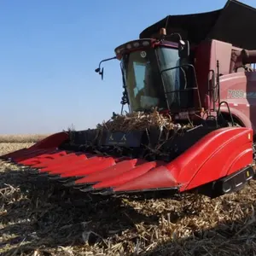
<path id="1" fill-rule="evenodd" d="M 136 224 L 157 225 L 160 217 L 147 216 L 135 209 L 136 201 L 143 198 L 137 198 L 131 206 L 124 198 L 87 195 L 44 177 L 31 178 L 28 172 L 12 167 L 0 172 L 0 191 L 0 253 L 1 248 L 10 247 L 7 255 L 12 255 L 17 246 L 26 252 L 43 245 L 67 247 L 88 242 L 93 246 L 100 241 L 104 247 L 104 239 L 114 242 L 116 236 L 127 230 L 136 234 Z"/>

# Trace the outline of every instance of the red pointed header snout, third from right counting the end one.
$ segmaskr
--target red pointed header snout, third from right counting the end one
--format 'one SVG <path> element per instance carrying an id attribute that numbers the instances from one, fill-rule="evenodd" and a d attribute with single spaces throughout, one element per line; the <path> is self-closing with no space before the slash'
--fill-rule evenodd
<path id="1" fill-rule="evenodd" d="M 76 184 L 96 183 L 108 178 L 113 179 L 113 177 L 116 177 L 120 173 L 133 169 L 136 163 L 137 163 L 137 159 L 124 160 L 114 166 L 103 169 L 101 172 L 91 173 L 87 177 L 82 177 L 79 180 L 75 181 L 75 183 Z"/>

